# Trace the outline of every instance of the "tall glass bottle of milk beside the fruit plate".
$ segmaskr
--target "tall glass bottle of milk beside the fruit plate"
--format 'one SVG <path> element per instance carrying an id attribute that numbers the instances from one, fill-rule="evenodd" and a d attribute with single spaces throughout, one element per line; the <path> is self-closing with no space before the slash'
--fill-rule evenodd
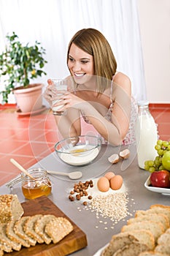
<path id="1" fill-rule="evenodd" d="M 149 110 L 149 102 L 138 102 L 139 115 L 136 121 L 136 150 L 138 165 L 144 169 L 144 162 L 154 160 L 158 155 L 155 145 L 158 140 L 157 124 Z"/>

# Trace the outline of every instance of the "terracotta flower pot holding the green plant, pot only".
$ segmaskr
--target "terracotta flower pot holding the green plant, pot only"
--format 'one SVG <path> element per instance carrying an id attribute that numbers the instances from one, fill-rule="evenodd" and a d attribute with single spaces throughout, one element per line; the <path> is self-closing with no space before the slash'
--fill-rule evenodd
<path id="1" fill-rule="evenodd" d="M 34 83 L 24 88 L 20 86 L 13 90 L 18 108 L 23 113 L 31 113 L 32 111 L 42 108 L 42 83 Z"/>

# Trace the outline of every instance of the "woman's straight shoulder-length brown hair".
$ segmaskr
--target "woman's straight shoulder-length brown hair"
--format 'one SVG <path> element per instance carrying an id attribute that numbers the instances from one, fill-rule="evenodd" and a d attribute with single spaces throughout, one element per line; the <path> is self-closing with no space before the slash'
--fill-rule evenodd
<path id="1" fill-rule="evenodd" d="M 81 29 L 80 31 L 77 31 L 69 42 L 67 64 L 72 43 L 93 56 L 94 75 L 96 75 L 98 82 L 97 89 L 98 92 L 103 92 L 110 83 L 107 83 L 104 86 L 101 81 L 104 80 L 104 78 L 109 81 L 112 80 L 112 76 L 115 75 L 117 69 L 117 62 L 109 42 L 104 35 L 96 29 Z"/>

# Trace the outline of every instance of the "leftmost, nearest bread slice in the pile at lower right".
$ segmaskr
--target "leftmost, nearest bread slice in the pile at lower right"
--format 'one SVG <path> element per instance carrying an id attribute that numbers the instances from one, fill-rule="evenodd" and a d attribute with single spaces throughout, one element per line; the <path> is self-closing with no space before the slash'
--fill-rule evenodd
<path id="1" fill-rule="evenodd" d="M 112 236 L 108 246 L 101 252 L 101 256 L 112 256 L 118 249 L 137 241 L 138 240 L 129 233 L 117 233 Z"/>

